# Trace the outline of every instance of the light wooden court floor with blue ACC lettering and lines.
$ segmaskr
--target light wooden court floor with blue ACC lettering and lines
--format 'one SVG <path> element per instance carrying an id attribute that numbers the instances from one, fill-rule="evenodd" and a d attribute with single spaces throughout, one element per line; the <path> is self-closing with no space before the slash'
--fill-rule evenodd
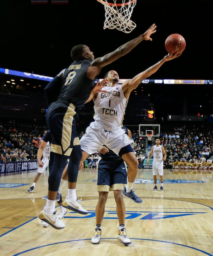
<path id="1" fill-rule="evenodd" d="M 213 174 L 211 170 L 164 170 L 164 191 L 152 191 L 151 169 L 139 169 L 136 204 L 125 198 L 127 235 L 132 243 L 117 240 L 118 219 L 113 193 L 105 208 L 102 239 L 91 243 L 95 229 L 96 170 L 78 174 L 77 196 L 88 215 L 68 211 L 64 229 L 44 228 L 38 213 L 45 206 L 48 171 L 33 193 L 27 192 L 36 170 L 0 176 L 0 255 L 4 256 L 204 256 L 213 255 Z M 158 182 L 159 182 L 159 176 Z M 158 184 L 158 188 L 159 188 Z M 67 195 L 67 186 L 62 196 Z M 58 209 L 56 203 L 56 209 Z"/>

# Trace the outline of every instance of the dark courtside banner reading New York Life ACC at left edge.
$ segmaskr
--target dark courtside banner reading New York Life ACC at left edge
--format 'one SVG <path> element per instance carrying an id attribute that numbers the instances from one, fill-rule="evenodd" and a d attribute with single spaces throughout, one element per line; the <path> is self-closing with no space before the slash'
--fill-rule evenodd
<path id="1" fill-rule="evenodd" d="M 0 162 L 0 173 L 16 172 L 16 171 L 29 171 L 38 169 L 37 161 L 20 161 L 20 162 Z"/>

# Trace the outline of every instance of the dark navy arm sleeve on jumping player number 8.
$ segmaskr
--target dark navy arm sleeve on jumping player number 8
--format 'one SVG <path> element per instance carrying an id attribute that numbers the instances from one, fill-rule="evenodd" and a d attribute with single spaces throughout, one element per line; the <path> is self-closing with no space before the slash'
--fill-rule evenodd
<path id="1" fill-rule="evenodd" d="M 44 89 L 48 107 L 50 104 L 57 100 L 61 90 L 61 78 L 56 76 Z"/>

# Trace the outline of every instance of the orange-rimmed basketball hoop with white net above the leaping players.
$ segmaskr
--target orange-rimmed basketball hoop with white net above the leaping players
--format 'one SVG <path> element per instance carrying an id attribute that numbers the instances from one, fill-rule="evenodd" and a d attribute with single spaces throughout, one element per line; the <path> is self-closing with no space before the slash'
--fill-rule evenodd
<path id="1" fill-rule="evenodd" d="M 133 8 L 137 0 L 97 0 L 104 5 L 105 21 L 104 29 L 114 29 L 130 33 L 135 27 L 135 22 L 131 21 Z M 110 1 L 110 2 L 108 2 Z M 120 3 L 118 3 L 120 2 Z"/>

